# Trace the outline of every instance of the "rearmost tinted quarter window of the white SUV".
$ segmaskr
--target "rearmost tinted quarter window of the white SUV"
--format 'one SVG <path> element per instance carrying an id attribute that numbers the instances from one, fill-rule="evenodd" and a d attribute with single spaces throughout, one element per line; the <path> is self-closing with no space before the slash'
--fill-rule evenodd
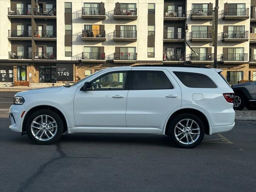
<path id="1" fill-rule="evenodd" d="M 191 72 L 173 72 L 179 80 L 190 88 L 217 88 L 216 84 L 206 75 Z"/>

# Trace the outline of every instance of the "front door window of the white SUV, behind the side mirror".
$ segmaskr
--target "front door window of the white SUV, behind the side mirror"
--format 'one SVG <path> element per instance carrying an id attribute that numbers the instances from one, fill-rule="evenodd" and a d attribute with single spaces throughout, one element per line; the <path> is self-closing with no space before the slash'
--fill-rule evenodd
<path id="1" fill-rule="evenodd" d="M 127 71 L 110 72 L 92 80 L 92 90 L 124 90 Z"/>

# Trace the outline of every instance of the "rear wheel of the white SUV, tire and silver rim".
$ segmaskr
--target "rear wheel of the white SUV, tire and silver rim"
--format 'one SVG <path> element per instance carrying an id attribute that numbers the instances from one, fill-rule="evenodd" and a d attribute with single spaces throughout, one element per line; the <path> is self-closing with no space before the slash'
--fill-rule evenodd
<path id="1" fill-rule="evenodd" d="M 186 126 L 187 122 L 188 126 Z M 191 123 L 192 127 L 190 130 L 189 127 L 191 126 Z M 200 144 L 204 138 L 204 124 L 200 118 L 193 114 L 180 114 L 176 116 L 170 123 L 169 136 L 172 142 L 174 142 L 174 144 L 176 144 L 178 147 L 194 148 Z M 194 142 L 192 142 L 192 139 Z"/>

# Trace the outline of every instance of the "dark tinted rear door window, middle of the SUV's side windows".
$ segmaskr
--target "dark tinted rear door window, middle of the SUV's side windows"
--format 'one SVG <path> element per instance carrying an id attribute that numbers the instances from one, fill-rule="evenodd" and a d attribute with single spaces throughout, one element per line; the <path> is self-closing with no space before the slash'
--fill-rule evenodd
<path id="1" fill-rule="evenodd" d="M 162 71 L 133 71 L 130 89 L 152 90 L 172 88 L 170 80 Z"/>

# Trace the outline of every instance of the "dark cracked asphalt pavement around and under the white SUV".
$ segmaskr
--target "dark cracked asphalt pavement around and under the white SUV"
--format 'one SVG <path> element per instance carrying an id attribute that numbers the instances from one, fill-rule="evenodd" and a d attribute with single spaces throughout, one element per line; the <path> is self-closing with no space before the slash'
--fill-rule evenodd
<path id="1" fill-rule="evenodd" d="M 144 134 L 68 134 L 40 146 L 9 130 L 14 94 L 0 93 L 1 192 L 256 191 L 256 121 L 193 149 Z"/>

